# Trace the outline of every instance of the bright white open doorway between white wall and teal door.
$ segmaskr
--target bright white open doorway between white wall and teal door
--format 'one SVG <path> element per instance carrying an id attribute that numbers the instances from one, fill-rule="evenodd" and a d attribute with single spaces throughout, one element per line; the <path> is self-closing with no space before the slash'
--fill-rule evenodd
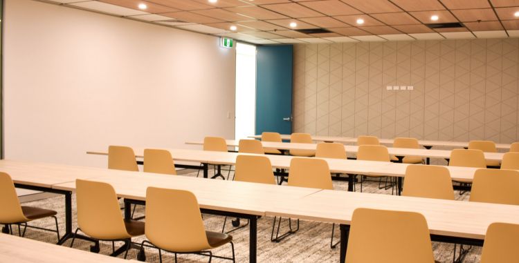
<path id="1" fill-rule="evenodd" d="M 236 45 L 235 139 L 255 133 L 256 46 Z"/>

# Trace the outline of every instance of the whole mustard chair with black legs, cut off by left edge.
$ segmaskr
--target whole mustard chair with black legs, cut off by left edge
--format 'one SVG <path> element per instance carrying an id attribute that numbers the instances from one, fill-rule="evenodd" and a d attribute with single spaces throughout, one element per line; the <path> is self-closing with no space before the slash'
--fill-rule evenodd
<path id="1" fill-rule="evenodd" d="M 57 234 L 57 242 L 60 242 L 60 228 L 57 226 L 56 211 L 34 206 L 20 206 L 18 195 L 16 193 L 15 184 L 7 173 L 0 172 L 0 224 L 5 225 L 2 233 L 12 234 L 12 224 L 18 225 L 18 235 L 25 236 L 28 227 L 37 228 L 45 231 L 55 232 Z M 46 217 L 53 217 L 56 223 L 56 230 L 28 226 L 27 223 L 33 220 L 39 220 Z M 21 231 L 20 225 L 24 225 L 24 231 Z"/>

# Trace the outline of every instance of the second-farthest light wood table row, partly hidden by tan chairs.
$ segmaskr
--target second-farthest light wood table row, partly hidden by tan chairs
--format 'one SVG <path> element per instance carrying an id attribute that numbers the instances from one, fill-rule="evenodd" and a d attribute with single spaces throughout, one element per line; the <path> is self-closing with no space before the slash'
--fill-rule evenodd
<path id="1" fill-rule="evenodd" d="M 226 140 L 228 146 L 238 146 L 239 142 L 236 140 Z M 201 141 L 186 142 L 186 144 L 203 145 Z M 280 150 L 316 150 L 317 144 L 300 144 L 300 143 L 289 143 L 289 142 L 262 142 L 265 148 L 276 148 Z M 358 146 L 345 145 L 347 153 L 357 153 Z M 388 147 L 390 155 L 395 155 L 401 159 L 405 156 L 415 156 L 423 158 L 439 158 L 449 159 L 450 150 L 428 150 L 428 149 L 415 149 L 415 148 L 392 148 Z M 484 153 L 484 157 L 487 160 L 501 161 L 504 153 Z"/>

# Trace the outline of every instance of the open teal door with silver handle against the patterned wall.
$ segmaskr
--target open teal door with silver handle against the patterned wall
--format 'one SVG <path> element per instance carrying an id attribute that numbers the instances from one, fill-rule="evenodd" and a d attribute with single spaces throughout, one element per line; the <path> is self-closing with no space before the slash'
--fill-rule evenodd
<path id="1" fill-rule="evenodd" d="M 293 47 L 257 46 L 256 50 L 256 134 L 291 134 Z"/>

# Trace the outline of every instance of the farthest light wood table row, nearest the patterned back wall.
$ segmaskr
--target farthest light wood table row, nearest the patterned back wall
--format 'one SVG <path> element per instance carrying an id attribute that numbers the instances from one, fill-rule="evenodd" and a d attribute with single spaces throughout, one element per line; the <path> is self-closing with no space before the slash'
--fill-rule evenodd
<path id="1" fill-rule="evenodd" d="M 251 136 L 251 138 L 261 139 L 262 135 Z M 289 140 L 290 135 L 281 135 L 282 139 Z M 355 137 L 336 137 L 336 136 L 312 136 L 312 139 L 316 142 L 340 142 L 340 143 L 356 143 L 357 138 Z M 394 139 L 379 139 L 381 144 L 393 144 Z M 427 139 L 419 139 L 418 144 L 424 146 L 424 148 L 432 148 L 434 146 L 444 146 L 453 148 L 466 148 L 468 142 L 451 142 L 451 141 L 435 141 Z M 495 144 L 498 149 L 509 150 L 511 144 Z"/>

